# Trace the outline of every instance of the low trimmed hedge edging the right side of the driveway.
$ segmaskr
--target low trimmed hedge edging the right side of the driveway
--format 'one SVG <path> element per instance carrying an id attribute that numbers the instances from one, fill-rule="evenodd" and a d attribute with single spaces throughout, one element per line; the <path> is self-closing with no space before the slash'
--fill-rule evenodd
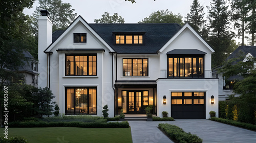
<path id="1" fill-rule="evenodd" d="M 211 118 L 209 118 L 209 120 L 256 131 L 256 125 L 249 124 L 249 123 L 242 123 L 242 122 L 227 120 L 225 118 L 218 118 L 218 117 L 211 117 Z"/>

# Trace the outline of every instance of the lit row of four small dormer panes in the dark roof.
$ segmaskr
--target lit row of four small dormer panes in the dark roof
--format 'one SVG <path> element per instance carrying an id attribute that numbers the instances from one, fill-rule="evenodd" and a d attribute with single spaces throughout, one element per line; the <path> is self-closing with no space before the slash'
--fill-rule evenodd
<path id="1" fill-rule="evenodd" d="M 116 44 L 143 44 L 143 35 L 115 35 Z"/>

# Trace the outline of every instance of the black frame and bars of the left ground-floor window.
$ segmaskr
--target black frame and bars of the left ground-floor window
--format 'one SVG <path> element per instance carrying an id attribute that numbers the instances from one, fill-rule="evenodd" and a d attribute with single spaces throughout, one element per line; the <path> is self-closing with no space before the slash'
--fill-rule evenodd
<path id="1" fill-rule="evenodd" d="M 73 115 L 73 114 L 69 114 L 69 113 L 67 113 L 67 106 L 68 106 L 68 104 L 67 104 L 67 89 L 74 89 L 74 93 L 75 93 L 75 89 L 76 88 L 87 88 L 87 90 L 89 91 L 89 89 L 96 89 L 96 113 L 95 114 L 89 114 L 89 106 L 87 107 L 88 108 L 88 112 L 87 112 L 87 114 L 86 113 L 80 113 L 79 112 L 79 114 L 86 114 L 86 115 L 97 115 L 98 114 L 98 88 L 97 88 L 97 86 L 83 86 L 83 87 L 65 87 L 65 114 L 66 115 Z M 75 94 L 74 94 L 74 105 L 75 105 Z M 88 101 L 88 104 L 89 104 L 89 98 L 87 98 L 87 101 Z M 75 111 L 76 109 L 75 109 L 75 106 L 74 106 L 74 115 L 78 115 L 78 114 L 76 114 L 76 111 Z"/>

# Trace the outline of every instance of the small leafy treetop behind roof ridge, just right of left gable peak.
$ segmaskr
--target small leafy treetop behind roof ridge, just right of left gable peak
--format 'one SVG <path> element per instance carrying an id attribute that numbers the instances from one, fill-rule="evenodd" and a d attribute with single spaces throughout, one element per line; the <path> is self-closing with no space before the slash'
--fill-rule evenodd
<path id="1" fill-rule="evenodd" d="M 124 23 L 124 18 L 122 16 L 118 16 L 118 13 L 114 13 L 111 16 L 108 12 L 104 12 L 100 19 L 94 19 L 95 23 Z"/>

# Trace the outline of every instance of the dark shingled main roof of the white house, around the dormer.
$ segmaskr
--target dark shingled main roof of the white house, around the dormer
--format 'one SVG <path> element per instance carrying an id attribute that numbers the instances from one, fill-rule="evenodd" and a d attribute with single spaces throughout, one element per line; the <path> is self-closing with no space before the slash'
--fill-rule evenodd
<path id="1" fill-rule="evenodd" d="M 177 23 L 90 23 L 89 26 L 117 53 L 123 54 L 154 54 L 168 42 L 180 29 Z M 55 31 L 53 42 L 64 31 Z M 113 32 L 142 32 L 145 33 L 144 44 L 114 44 Z"/>

